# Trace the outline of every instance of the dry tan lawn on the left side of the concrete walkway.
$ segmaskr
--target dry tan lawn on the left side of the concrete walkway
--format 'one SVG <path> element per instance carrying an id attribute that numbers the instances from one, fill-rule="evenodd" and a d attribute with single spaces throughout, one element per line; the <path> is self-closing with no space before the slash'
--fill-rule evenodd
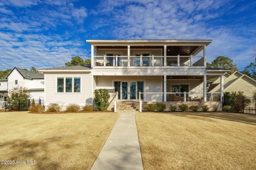
<path id="1" fill-rule="evenodd" d="M 0 160 L 36 160 L 36 165 L 0 169 L 90 169 L 118 114 L 0 113 Z"/>

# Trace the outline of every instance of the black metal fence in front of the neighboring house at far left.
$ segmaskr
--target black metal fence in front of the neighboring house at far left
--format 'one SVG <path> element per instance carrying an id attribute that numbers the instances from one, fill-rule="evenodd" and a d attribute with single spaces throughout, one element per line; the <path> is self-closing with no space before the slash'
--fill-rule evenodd
<path id="1" fill-rule="evenodd" d="M 28 111 L 29 106 L 34 105 L 34 104 L 39 104 L 44 106 L 44 100 L 39 99 L 39 100 L 18 100 L 18 101 L 5 101 L 0 103 L 0 110 L 4 110 L 4 112 L 9 112 L 9 111 Z"/>

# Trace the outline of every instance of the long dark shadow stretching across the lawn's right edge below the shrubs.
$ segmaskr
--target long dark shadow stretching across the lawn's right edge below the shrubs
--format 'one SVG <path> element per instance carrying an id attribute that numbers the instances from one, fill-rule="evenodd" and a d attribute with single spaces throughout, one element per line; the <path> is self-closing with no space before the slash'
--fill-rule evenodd
<path id="1" fill-rule="evenodd" d="M 192 119 L 198 118 L 202 120 L 202 118 L 217 118 L 219 120 L 256 125 L 256 115 L 247 115 L 247 114 L 238 114 L 238 113 L 214 113 L 214 112 L 207 112 L 207 113 L 182 112 L 182 113 L 172 113 L 172 114 L 175 114 L 177 116 L 192 118 Z"/>

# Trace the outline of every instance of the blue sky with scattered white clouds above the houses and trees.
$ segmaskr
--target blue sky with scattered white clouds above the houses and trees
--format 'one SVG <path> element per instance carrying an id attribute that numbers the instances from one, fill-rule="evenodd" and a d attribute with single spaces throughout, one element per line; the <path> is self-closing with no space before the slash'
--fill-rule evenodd
<path id="1" fill-rule="evenodd" d="M 1 0 L 0 70 L 90 57 L 86 39 L 212 39 L 239 70 L 256 50 L 256 1 Z"/>

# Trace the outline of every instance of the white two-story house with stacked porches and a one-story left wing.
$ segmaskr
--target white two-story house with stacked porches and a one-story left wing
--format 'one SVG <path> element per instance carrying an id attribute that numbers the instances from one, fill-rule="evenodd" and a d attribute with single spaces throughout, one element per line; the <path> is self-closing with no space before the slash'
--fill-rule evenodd
<path id="1" fill-rule="evenodd" d="M 221 108 L 223 74 L 228 70 L 206 67 L 206 47 L 211 41 L 87 40 L 90 67 L 41 70 L 45 73 L 45 104 L 93 104 L 93 91 L 103 88 L 110 92 L 109 109 L 117 111 L 121 110 L 118 106 L 131 103 L 132 109 L 143 110 L 151 102 Z M 221 91 L 209 93 L 206 82 L 215 77 L 221 79 Z"/>

